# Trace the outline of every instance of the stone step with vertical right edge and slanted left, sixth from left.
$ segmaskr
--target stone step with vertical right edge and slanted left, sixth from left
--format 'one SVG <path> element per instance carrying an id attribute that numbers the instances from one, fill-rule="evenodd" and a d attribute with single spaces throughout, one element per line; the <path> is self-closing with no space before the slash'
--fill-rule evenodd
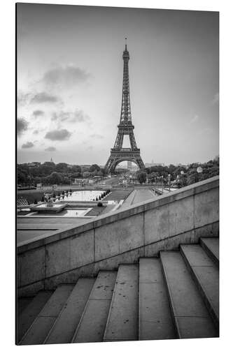
<path id="1" fill-rule="evenodd" d="M 139 338 L 139 266 L 120 265 L 108 313 L 104 341 Z"/>

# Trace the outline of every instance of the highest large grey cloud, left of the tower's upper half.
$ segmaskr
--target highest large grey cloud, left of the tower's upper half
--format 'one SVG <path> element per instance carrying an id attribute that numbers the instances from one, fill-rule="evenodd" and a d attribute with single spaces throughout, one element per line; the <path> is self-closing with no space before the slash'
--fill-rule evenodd
<path id="1" fill-rule="evenodd" d="M 58 66 L 48 70 L 42 78 L 45 84 L 58 87 L 73 87 L 89 79 L 90 74 L 78 66 Z"/>

